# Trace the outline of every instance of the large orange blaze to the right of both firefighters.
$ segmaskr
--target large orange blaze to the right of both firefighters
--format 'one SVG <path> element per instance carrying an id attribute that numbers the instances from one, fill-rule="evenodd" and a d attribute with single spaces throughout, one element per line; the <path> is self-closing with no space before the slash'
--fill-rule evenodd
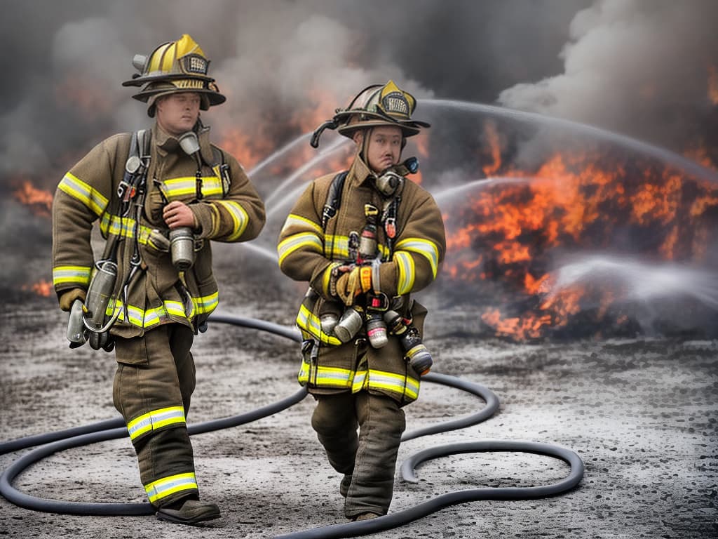
<path id="1" fill-rule="evenodd" d="M 485 125 L 489 176 L 444 214 L 451 282 L 483 282 L 498 294 L 482 322 L 497 336 L 542 338 L 576 318 L 618 331 L 630 320 L 612 305 L 616 290 L 556 287 L 563 252 L 621 252 L 657 261 L 707 262 L 715 241 L 718 185 L 635 156 L 562 149 L 532 170 L 505 164 L 503 141 Z M 503 181 L 492 183 L 491 177 Z M 527 179 L 528 178 L 528 179 Z M 506 179 L 509 179 L 508 181 Z M 457 287 L 461 289 L 461 286 Z M 461 292 L 460 292 L 461 293 Z M 498 305 L 496 305 L 498 303 Z"/>

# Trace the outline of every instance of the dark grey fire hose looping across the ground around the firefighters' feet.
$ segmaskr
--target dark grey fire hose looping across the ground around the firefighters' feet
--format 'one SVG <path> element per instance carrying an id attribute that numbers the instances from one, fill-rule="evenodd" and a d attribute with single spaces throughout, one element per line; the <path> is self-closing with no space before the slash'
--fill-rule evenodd
<path id="1" fill-rule="evenodd" d="M 245 328 L 254 328 L 259 331 L 274 333 L 275 335 L 283 336 L 294 341 L 300 341 L 299 334 L 294 331 L 294 329 L 258 320 L 256 318 L 213 314 L 210 316 L 210 321 L 229 323 L 234 326 L 241 326 Z M 488 388 L 480 384 L 467 382 L 466 380 L 437 373 L 426 374 L 421 379 L 422 381 L 438 383 L 469 392 L 472 395 L 480 397 L 484 400 L 485 407 L 482 407 L 482 409 L 477 413 L 467 415 L 464 418 L 450 420 L 437 425 L 429 425 L 425 428 L 404 433 L 404 436 L 401 438 L 402 441 L 408 441 L 414 438 L 419 438 L 420 436 L 428 436 L 430 434 L 442 433 L 449 430 L 456 430 L 470 425 L 475 425 L 490 418 L 490 416 L 498 410 L 498 397 L 496 397 L 493 392 L 488 390 Z M 297 402 L 300 402 L 306 396 L 307 389 L 303 387 L 301 390 L 294 393 L 294 395 L 290 395 L 282 400 L 257 408 L 256 410 L 251 410 L 247 413 L 230 418 L 222 418 L 210 420 L 205 423 L 188 425 L 187 431 L 190 435 L 195 435 L 224 428 L 236 427 L 245 423 L 251 423 L 252 421 L 266 418 L 269 415 L 274 415 L 282 410 L 286 410 L 286 408 L 297 404 Z M 46 456 L 56 453 L 57 451 L 64 451 L 65 449 L 73 447 L 85 446 L 90 443 L 123 438 L 124 436 L 127 436 L 126 425 L 124 424 L 122 418 L 116 418 L 91 423 L 90 425 L 82 427 L 57 430 L 55 432 L 39 434 L 37 436 L 27 436 L 25 438 L 18 438 L 17 440 L 0 442 L 0 454 L 39 446 L 15 461 L 0 475 L 0 494 L 2 494 L 2 496 L 14 505 L 42 512 L 54 512 L 69 515 L 105 516 L 153 515 L 154 509 L 149 503 L 71 502 L 30 496 L 19 492 L 19 490 L 12 486 L 14 479 L 16 479 L 19 474 L 22 474 L 27 467 L 44 459 Z M 460 503 L 490 499 L 536 499 L 554 496 L 573 489 L 583 478 L 583 462 L 574 451 L 559 446 L 553 446 L 548 443 L 501 440 L 449 443 L 442 446 L 434 446 L 432 448 L 425 449 L 424 451 L 419 451 L 419 453 L 414 453 L 414 455 L 404 461 L 401 465 L 401 475 L 407 482 L 418 482 L 418 479 L 416 479 L 415 469 L 425 461 L 458 453 L 480 453 L 489 451 L 513 451 L 550 456 L 563 460 L 569 464 L 571 470 L 566 478 L 549 485 L 542 485 L 538 487 L 487 487 L 479 489 L 464 489 L 439 495 L 429 499 L 429 501 L 409 507 L 406 510 L 393 512 L 375 519 L 312 528 L 310 530 L 278 535 L 276 536 L 276 539 L 328 539 L 367 535 L 370 533 L 397 528 L 398 526 L 418 520 L 421 517 L 431 515 L 434 512 L 444 509 L 444 507 Z"/>

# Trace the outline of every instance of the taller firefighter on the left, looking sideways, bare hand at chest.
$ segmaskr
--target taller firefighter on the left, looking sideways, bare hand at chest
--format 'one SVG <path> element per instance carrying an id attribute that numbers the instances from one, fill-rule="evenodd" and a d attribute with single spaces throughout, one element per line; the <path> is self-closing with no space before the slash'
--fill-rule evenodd
<path id="1" fill-rule="evenodd" d="M 217 505 L 200 501 L 186 423 L 195 390 L 192 341 L 218 304 L 210 240 L 248 241 L 265 222 L 241 165 L 210 144 L 200 120 L 200 110 L 225 101 L 209 63 L 187 34 L 137 55 L 139 73 L 123 86 L 139 88 L 133 97 L 147 103 L 154 125 L 91 149 L 62 178 L 52 207 L 60 308 L 75 313 L 82 305 L 90 344 L 114 349 L 113 402 L 149 502 L 160 520 L 190 525 L 220 516 Z M 98 261 L 94 221 L 105 241 Z M 97 292 L 102 279 L 111 285 Z M 98 316 L 102 328 L 88 323 Z"/>

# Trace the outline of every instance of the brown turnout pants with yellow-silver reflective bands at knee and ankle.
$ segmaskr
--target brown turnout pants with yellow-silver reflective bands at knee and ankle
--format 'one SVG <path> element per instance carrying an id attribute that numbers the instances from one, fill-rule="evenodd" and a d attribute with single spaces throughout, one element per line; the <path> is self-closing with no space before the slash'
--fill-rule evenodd
<path id="1" fill-rule="evenodd" d="M 155 508 L 197 497 L 186 415 L 195 390 L 194 334 L 177 323 L 116 338 L 113 402 L 127 424 L 140 479 Z"/>

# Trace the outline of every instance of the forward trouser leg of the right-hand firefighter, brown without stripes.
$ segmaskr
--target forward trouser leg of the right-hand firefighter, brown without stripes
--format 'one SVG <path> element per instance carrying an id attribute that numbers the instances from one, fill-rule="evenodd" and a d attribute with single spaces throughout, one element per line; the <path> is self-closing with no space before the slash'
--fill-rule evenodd
<path id="1" fill-rule="evenodd" d="M 386 515 L 393 497 L 396 455 L 406 428 L 404 410 L 385 395 L 362 391 L 355 398 L 359 448 L 344 512 L 348 518 L 363 512 Z"/>

